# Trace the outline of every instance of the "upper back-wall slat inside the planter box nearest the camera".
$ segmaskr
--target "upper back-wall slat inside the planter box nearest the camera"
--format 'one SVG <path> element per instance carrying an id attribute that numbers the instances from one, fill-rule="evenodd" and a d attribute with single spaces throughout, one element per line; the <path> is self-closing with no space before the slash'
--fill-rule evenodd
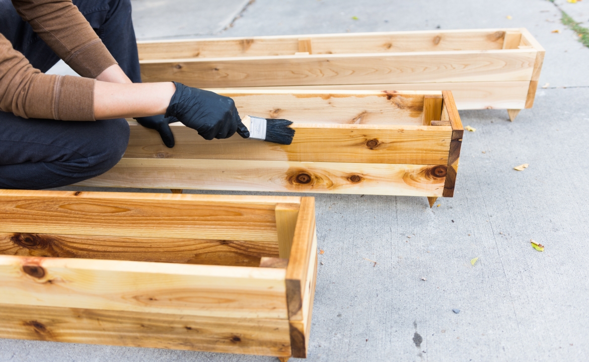
<path id="1" fill-rule="evenodd" d="M 113 172 L 117 170 L 120 168 Z M 151 174 L 152 177 L 158 178 L 157 168 L 152 172 L 155 172 Z M 206 170 L 199 172 L 206 174 Z M 133 174 L 126 174 L 125 177 L 140 181 Z M 161 180 L 165 181 L 166 178 Z M 126 193 L 113 197 L 109 194 L 118 192 L 35 194 L 0 191 L 0 232 L 277 241 L 274 217 L 276 204 L 263 204 L 260 198 L 250 198 L 260 201 L 250 204 L 239 202 L 239 197 L 231 202 L 229 197 L 193 198 L 191 195 L 144 196 L 148 194 Z M 297 202 L 296 199 L 290 200 Z"/>

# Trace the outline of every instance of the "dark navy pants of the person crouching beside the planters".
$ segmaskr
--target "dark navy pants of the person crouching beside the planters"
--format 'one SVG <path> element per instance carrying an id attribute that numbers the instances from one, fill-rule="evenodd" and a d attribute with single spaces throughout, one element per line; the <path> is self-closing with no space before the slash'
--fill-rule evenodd
<path id="1" fill-rule="evenodd" d="M 133 82 L 140 82 L 130 0 L 74 0 Z M 0 0 L 0 33 L 31 65 L 46 72 L 59 61 L 10 0 Z M 0 188 L 38 190 L 100 175 L 123 157 L 124 119 L 95 122 L 24 119 L 0 112 Z"/>

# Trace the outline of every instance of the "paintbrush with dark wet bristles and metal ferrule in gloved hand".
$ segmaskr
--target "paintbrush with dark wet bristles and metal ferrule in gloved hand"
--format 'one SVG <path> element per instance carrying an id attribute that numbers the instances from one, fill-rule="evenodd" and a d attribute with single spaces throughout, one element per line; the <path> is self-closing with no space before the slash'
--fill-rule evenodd
<path id="1" fill-rule="evenodd" d="M 290 145 L 294 137 L 293 122 L 288 119 L 260 118 L 246 115 L 241 122 L 250 131 L 248 140 L 262 140 L 281 145 Z"/>

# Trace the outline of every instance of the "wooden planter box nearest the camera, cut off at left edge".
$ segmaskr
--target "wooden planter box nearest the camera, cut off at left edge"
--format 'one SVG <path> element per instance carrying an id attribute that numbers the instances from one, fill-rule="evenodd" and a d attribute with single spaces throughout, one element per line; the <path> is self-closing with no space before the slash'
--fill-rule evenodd
<path id="1" fill-rule="evenodd" d="M 0 190 L 0 337 L 306 357 L 315 199 Z"/>

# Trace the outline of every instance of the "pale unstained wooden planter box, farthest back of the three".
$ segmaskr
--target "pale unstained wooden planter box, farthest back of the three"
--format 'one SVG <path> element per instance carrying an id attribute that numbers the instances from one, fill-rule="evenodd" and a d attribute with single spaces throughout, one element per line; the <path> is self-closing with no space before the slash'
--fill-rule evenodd
<path id="1" fill-rule="evenodd" d="M 531 108 L 544 48 L 525 28 L 138 42 L 145 82 L 198 88 L 452 91 L 458 109 Z"/>

